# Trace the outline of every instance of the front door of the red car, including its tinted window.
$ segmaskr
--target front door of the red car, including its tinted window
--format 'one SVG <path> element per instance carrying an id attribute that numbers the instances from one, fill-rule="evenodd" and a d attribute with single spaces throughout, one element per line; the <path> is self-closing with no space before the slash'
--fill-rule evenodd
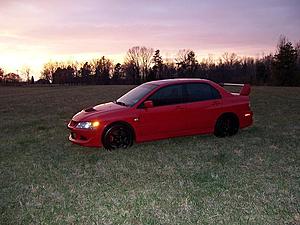
<path id="1" fill-rule="evenodd" d="M 147 99 L 153 101 L 152 108 L 140 107 L 138 130 L 142 139 L 172 137 L 187 129 L 182 93 L 181 84 L 162 87 Z"/>

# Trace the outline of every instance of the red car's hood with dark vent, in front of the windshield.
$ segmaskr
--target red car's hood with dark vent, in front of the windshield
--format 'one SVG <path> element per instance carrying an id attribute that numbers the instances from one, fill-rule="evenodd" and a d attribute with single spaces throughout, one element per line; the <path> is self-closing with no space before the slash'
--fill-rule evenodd
<path id="1" fill-rule="evenodd" d="M 73 116 L 74 121 L 87 121 L 89 119 L 94 119 L 94 117 L 103 116 L 107 113 L 112 113 L 116 111 L 126 110 L 126 106 L 117 105 L 113 102 L 108 102 L 100 105 L 96 105 L 91 108 L 84 109 Z"/>

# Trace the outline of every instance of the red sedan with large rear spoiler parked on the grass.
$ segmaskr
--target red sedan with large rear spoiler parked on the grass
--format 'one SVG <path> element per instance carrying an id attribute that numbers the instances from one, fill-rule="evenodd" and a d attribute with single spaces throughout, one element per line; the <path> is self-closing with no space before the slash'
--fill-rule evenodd
<path id="1" fill-rule="evenodd" d="M 177 136 L 231 136 L 252 124 L 250 86 L 231 93 L 203 79 L 144 83 L 114 102 L 77 113 L 68 128 L 75 144 L 112 150 Z"/>

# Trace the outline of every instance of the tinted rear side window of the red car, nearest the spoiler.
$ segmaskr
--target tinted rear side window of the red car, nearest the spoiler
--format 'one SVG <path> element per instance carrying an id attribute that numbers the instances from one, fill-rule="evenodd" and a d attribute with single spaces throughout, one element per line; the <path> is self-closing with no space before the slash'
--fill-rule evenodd
<path id="1" fill-rule="evenodd" d="M 188 102 L 205 101 L 221 98 L 220 93 L 214 87 L 204 83 L 187 84 L 186 91 Z"/>

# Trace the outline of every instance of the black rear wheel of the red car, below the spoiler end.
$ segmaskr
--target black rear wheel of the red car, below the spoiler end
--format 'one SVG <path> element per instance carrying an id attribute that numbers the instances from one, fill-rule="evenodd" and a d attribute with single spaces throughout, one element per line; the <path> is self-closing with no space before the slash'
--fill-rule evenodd
<path id="1" fill-rule="evenodd" d="M 238 130 L 238 118 L 234 114 L 225 114 L 217 120 L 214 134 L 217 137 L 226 137 L 235 135 Z"/>

